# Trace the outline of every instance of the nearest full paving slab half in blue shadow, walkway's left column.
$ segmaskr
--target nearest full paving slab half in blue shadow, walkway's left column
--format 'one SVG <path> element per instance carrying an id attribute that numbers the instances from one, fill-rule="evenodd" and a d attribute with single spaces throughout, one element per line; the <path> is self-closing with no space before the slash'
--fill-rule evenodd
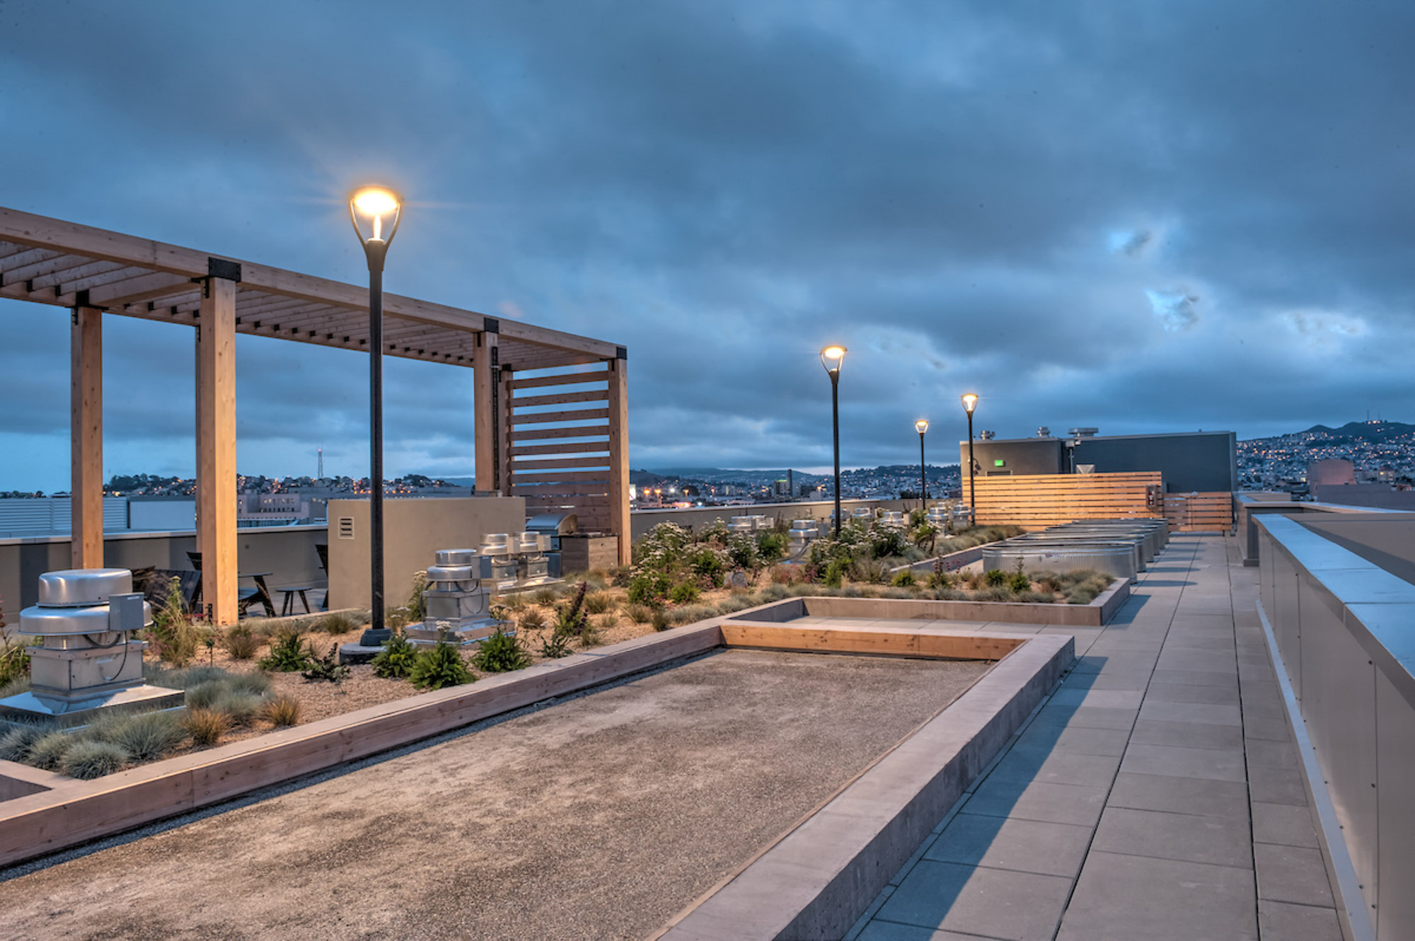
<path id="1" fill-rule="evenodd" d="M 1071 880 L 920 862 L 880 908 L 883 921 L 993 938 L 1051 938 Z"/>

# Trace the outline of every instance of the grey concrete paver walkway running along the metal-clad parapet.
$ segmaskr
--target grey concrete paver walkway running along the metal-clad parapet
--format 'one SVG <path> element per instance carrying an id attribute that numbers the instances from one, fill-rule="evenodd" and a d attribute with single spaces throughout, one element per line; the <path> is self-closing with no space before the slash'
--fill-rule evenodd
<path id="1" fill-rule="evenodd" d="M 1040 628 L 1075 669 L 849 937 L 1339 941 L 1257 594 L 1180 535 L 1105 628 Z"/>

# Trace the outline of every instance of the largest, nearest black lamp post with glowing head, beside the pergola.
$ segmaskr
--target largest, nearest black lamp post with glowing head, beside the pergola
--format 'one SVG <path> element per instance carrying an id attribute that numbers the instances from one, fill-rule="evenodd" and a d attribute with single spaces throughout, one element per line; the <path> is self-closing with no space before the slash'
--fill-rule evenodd
<path id="1" fill-rule="evenodd" d="M 368 259 L 369 593 L 371 621 L 359 644 L 379 647 L 383 627 L 383 258 L 398 232 L 403 200 L 386 187 L 350 194 L 350 219 Z"/>

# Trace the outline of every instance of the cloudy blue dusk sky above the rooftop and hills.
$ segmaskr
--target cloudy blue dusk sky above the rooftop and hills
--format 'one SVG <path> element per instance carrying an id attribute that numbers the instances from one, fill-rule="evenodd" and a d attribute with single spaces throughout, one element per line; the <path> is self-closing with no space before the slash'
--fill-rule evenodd
<path id="1" fill-rule="evenodd" d="M 0 0 L 0 205 L 630 350 L 634 467 L 1415 419 L 1415 4 Z M 190 328 L 105 324 L 108 473 L 191 475 Z M 471 374 L 388 362 L 391 475 Z M 68 316 L 0 300 L 0 490 L 68 485 Z M 238 338 L 242 473 L 365 474 L 366 359 Z"/>

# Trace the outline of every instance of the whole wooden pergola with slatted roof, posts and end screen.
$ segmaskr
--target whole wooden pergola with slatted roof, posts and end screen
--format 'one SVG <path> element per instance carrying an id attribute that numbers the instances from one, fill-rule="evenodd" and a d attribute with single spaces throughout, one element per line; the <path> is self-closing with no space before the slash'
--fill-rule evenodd
<path id="1" fill-rule="evenodd" d="M 103 314 L 197 328 L 197 546 L 209 613 L 232 623 L 235 335 L 366 351 L 368 289 L 0 207 L 0 297 L 72 310 L 76 569 L 103 565 Z M 628 562 L 624 347 L 396 294 L 383 296 L 383 342 L 474 371 L 478 491 L 573 511 L 582 529 L 617 535 Z"/>

